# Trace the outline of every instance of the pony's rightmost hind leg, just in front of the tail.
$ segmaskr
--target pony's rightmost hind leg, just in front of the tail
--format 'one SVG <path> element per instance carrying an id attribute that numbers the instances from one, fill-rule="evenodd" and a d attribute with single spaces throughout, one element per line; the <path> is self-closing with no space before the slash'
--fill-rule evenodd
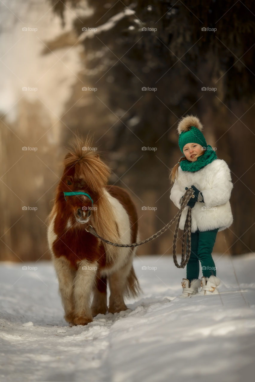
<path id="1" fill-rule="evenodd" d="M 124 292 L 127 286 L 127 277 L 132 268 L 132 259 L 127 262 L 126 265 L 113 272 L 109 276 L 109 287 L 110 287 L 110 300 L 109 300 L 109 313 L 121 312 L 127 310 L 126 304 L 124 303 Z"/>

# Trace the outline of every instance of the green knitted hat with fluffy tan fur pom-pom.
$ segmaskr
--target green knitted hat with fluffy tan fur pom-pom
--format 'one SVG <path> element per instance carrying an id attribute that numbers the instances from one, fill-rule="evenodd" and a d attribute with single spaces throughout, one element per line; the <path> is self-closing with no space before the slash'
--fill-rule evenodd
<path id="1" fill-rule="evenodd" d="M 187 115 L 180 120 L 177 130 L 179 135 L 179 147 L 183 153 L 183 147 L 186 143 L 198 143 L 202 147 L 207 147 L 206 140 L 201 133 L 203 126 L 197 117 Z"/>

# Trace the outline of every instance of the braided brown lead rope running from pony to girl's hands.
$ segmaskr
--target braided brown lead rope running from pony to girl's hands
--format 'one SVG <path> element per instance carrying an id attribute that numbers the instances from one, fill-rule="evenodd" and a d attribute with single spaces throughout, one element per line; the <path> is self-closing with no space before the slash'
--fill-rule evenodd
<path id="1" fill-rule="evenodd" d="M 177 257 L 176 257 L 176 242 L 177 242 L 177 238 L 178 238 L 178 230 L 179 230 L 179 223 L 180 223 L 180 218 L 181 218 L 181 213 L 183 212 L 183 209 L 186 207 L 188 201 L 190 200 L 190 198 L 192 197 L 194 193 L 194 190 L 193 188 L 188 188 L 182 198 L 182 202 L 181 202 L 181 208 L 180 210 L 177 212 L 177 214 L 175 215 L 175 217 L 173 217 L 173 219 L 167 223 L 167 225 L 165 225 L 165 227 L 163 227 L 160 231 L 158 231 L 157 233 L 154 233 L 154 235 L 150 236 L 148 239 L 145 239 L 143 241 L 139 241 L 138 243 L 132 243 L 132 244 L 118 244 L 118 243 L 112 243 L 111 241 L 108 241 L 106 239 L 103 239 L 101 236 L 99 236 L 96 231 L 94 230 L 94 228 L 92 227 L 92 225 L 89 225 L 89 228 L 85 228 L 87 232 L 91 233 L 92 235 L 96 236 L 98 239 L 101 239 L 102 241 L 104 241 L 105 243 L 107 244 L 110 244 L 110 245 L 113 245 L 115 247 L 137 247 L 139 245 L 142 245 L 142 244 L 145 244 L 145 243 L 148 243 L 149 241 L 151 240 L 154 240 L 156 239 L 158 236 L 162 235 L 162 233 L 164 233 L 176 220 L 177 220 L 177 223 L 176 223 L 176 227 L 175 227 L 175 233 L 174 233 L 174 236 L 173 236 L 173 262 L 175 263 L 175 265 L 178 267 L 178 268 L 184 268 L 185 265 L 187 264 L 189 258 L 190 258 L 190 244 L 191 244 L 191 208 L 189 207 L 188 208 L 188 213 L 187 213 L 187 217 L 186 217 L 186 221 L 185 221 L 185 226 L 184 226 L 184 229 L 183 229 L 183 238 L 182 238 L 182 246 L 181 246 L 181 264 L 179 265 L 178 262 L 177 262 Z M 184 248 L 185 248 L 185 233 L 187 233 L 187 254 L 186 254 L 186 259 L 185 259 L 185 251 L 184 251 Z"/>

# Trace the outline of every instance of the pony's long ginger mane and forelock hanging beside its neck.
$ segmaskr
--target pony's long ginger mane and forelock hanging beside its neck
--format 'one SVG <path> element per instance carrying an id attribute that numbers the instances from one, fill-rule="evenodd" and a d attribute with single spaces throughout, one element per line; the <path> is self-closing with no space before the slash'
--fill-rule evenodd
<path id="1" fill-rule="evenodd" d="M 87 150 L 84 149 L 86 147 Z M 85 142 L 78 138 L 75 143 L 70 145 L 63 164 L 65 168 L 75 166 L 75 175 L 83 178 L 88 188 L 98 195 L 98 200 L 95 203 L 97 209 L 93 210 L 90 224 L 95 228 L 99 236 L 113 243 L 120 243 L 116 216 L 105 189 L 111 170 L 100 159 L 98 152 L 88 150 L 89 147 L 93 147 L 91 137 L 87 136 Z M 107 261 L 114 261 L 118 249 L 109 244 L 103 244 Z"/>

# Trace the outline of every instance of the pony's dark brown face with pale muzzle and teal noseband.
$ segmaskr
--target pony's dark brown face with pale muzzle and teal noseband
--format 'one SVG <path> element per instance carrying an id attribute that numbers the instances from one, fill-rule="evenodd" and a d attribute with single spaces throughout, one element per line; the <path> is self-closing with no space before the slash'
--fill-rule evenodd
<path id="1" fill-rule="evenodd" d="M 62 178 L 63 197 L 64 192 L 83 192 L 87 193 L 93 202 L 95 202 L 95 195 L 88 189 L 85 181 L 82 178 L 77 178 L 75 175 L 67 175 Z M 90 220 L 93 207 L 92 200 L 87 195 L 66 195 L 66 207 L 74 214 L 78 223 L 87 223 Z"/>

